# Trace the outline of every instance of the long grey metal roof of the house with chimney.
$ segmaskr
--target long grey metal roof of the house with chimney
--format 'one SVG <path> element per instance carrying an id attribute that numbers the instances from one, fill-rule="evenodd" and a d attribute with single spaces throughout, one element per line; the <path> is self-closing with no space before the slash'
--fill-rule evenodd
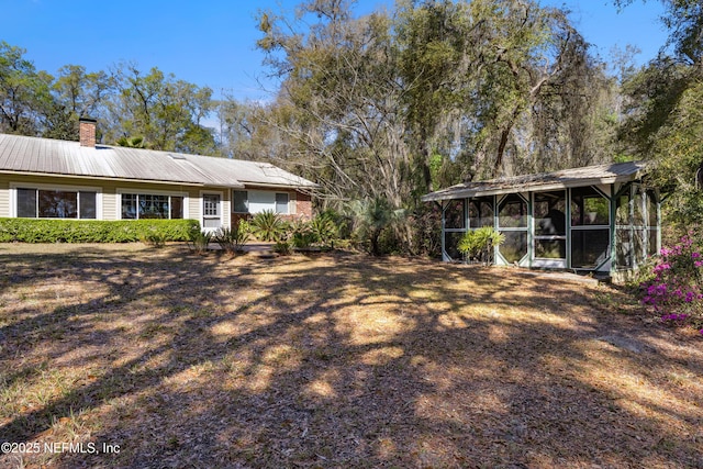
<path id="1" fill-rule="evenodd" d="M 0 171 L 243 188 L 316 185 L 268 163 L 0 134 Z"/>

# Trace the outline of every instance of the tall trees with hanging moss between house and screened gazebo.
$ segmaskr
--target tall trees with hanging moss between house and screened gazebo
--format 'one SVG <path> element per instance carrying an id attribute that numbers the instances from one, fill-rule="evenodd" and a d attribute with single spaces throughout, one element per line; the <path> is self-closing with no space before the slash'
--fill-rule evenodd
<path id="1" fill-rule="evenodd" d="M 275 132 L 283 143 L 267 152 L 338 201 L 380 198 L 415 213 L 431 188 L 476 175 L 611 160 L 614 80 L 560 9 L 401 0 L 355 18 L 346 2 L 321 0 L 258 20 L 258 46 L 286 89 L 246 138 Z M 414 252 L 411 220 L 355 222 L 356 234 L 375 253 L 386 250 L 381 232 L 389 248 Z"/>

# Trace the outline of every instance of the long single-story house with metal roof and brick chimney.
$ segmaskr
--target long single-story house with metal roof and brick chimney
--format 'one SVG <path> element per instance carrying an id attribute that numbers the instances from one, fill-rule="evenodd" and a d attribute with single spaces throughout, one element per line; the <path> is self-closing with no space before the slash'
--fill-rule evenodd
<path id="1" fill-rule="evenodd" d="M 207 231 L 239 211 L 310 219 L 313 182 L 266 163 L 0 134 L 0 217 L 194 219 Z"/>

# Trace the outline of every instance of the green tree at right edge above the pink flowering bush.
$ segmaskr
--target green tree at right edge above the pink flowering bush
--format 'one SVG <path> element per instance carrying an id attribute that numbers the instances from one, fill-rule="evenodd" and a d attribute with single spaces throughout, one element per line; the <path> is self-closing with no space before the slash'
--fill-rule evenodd
<path id="1" fill-rule="evenodd" d="M 635 0 L 617 0 L 626 7 Z M 663 224 L 679 235 L 703 226 L 703 192 L 695 174 L 703 164 L 703 7 L 699 0 L 662 1 L 669 31 L 667 53 L 660 54 L 625 81 L 621 129 L 625 150 L 651 159 L 652 186 L 669 197 L 662 204 Z"/>

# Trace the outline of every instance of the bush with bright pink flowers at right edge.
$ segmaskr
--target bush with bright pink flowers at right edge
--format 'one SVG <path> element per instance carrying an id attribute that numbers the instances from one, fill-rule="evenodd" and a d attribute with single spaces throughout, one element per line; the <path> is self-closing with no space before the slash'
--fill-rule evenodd
<path id="1" fill-rule="evenodd" d="M 692 233 L 662 248 L 651 277 L 640 284 L 641 302 L 670 324 L 692 324 L 703 334 L 703 249 Z"/>

